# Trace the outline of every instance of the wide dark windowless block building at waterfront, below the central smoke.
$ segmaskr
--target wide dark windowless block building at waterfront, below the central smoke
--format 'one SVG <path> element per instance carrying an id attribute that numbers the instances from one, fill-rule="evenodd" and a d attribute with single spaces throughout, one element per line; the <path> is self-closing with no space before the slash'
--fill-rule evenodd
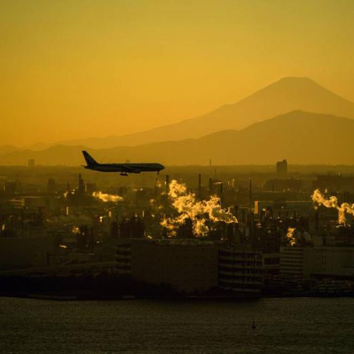
<path id="1" fill-rule="evenodd" d="M 185 293 L 218 286 L 218 246 L 200 240 L 121 240 L 117 270 L 150 284 L 169 284 Z"/>

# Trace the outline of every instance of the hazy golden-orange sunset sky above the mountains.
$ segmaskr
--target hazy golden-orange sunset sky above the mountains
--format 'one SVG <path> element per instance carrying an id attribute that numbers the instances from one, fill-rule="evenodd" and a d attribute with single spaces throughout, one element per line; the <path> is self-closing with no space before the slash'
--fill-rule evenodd
<path id="1" fill-rule="evenodd" d="M 0 145 L 122 135 L 284 76 L 354 101 L 353 0 L 0 0 Z"/>

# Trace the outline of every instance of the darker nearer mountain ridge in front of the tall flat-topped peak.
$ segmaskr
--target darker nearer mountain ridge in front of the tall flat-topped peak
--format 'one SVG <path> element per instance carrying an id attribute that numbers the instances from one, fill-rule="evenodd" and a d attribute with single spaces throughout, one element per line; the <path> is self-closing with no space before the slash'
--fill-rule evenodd
<path id="1" fill-rule="evenodd" d="M 289 163 L 354 164 L 354 120 L 335 115 L 293 111 L 239 131 L 226 130 L 198 139 L 134 147 L 88 150 L 102 162 L 161 162 L 166 165 Z M 340 142 L 340 143 L 339 143 Z M 81 165 L 83 146 L 58 145 L 41 152 L 11 152 L 0 164 L 24 165 L 29 158 L 45 165 Z"/>

